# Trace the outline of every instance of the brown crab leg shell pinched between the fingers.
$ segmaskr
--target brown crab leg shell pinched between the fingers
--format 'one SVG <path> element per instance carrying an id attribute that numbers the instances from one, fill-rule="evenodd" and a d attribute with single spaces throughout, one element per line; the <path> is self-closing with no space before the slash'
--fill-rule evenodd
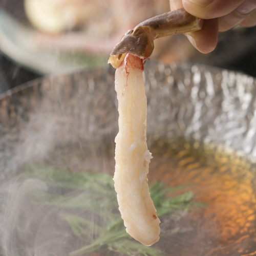
<path id="1" fill-rule="evenodd" d="M 154 50 L 154 39 L 197 31 L 201 28 L 201 19 L 194 17 L 184 9 L 152 17 L 125 33 L 112 50 L 108 63 L 118 68 L 126 53 L 142 59 L 149 58 Z"/>

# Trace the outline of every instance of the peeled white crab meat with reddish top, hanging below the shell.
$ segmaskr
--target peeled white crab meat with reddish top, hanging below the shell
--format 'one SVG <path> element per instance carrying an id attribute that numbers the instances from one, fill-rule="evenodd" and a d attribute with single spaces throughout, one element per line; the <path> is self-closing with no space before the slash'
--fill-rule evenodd
<path id="1" fill-rule="evenodd" d="M 115 190 L 127 233 L 143 245 L 159 240 L 160 220 L 147 184 L 152 155 L 146 144 L 147 103 L 143 62 L 127 54 L 115 74 L 119 133 L 115 150 Z"/>

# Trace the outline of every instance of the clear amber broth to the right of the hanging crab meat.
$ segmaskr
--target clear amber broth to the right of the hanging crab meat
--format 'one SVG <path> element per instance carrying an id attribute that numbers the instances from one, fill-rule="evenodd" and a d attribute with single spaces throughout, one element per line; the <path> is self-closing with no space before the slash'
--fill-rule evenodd
<path id="1" fill-rule="evenodd" d="M 170 238 L 175 247 L 169 253 L 256 255 L 254 164 L 223 147 L 184 139 L 155 141 L 151 152 L 151 182 L 185 185 L 184 191 L 193 191 L 194 200 L 206 204 L 181 221 L 185 231 Z"/>

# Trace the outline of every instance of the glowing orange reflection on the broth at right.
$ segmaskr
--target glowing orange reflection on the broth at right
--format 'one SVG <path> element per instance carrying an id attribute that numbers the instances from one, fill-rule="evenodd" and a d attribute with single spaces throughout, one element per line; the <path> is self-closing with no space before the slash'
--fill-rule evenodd
<path id="1" fill-rule="evenodd" d="M 172 141 L 153 143 L 149 179 L 187 185 L 206 207 L 191 213 L 198 229 L 210 229 L 211 241 L 224 246 L 255 233 L 255 167 L 221 147 Z M 241 252 L 242 253 L 242 252 Z M 250 255 L 250 254 L 249 254 Z"/>

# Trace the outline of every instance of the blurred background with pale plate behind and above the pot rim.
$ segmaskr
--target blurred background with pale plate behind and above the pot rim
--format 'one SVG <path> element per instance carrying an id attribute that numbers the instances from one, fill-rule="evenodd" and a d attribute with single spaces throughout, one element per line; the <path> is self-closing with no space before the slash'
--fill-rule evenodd
<path id="1" fill-rule="evenodd" d="M 168 0 L 0 0 L 0 93 L 46 74 L 106 65 L 122 35 L 169 11 Z M 204 63 L 256 76 L 256 27 L 220 33 L 197 52 L 183 35 L 155 41 L 152 60 Z"/>

